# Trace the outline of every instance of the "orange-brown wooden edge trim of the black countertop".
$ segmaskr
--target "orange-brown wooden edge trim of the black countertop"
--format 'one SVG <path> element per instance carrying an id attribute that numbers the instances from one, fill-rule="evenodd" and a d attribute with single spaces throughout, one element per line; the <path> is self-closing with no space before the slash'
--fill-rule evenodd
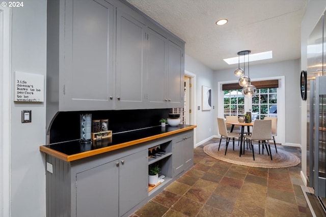
<path id="1" fill-rule="evenodd" d="M 120 149 L 120 148 L 131 146 L 131 145 L 137 145 L 137 144 L 140 144 L 140 143 L 143 143 L 143 142 L 151 141 L 151 140 L 154 140 L 154 139 L 166 137 L 166 136 L 177 134 L 177 133 L 181 133 L 181 132 L 184 132 L 184 131 L 194 129 L 196 127 L 197 127 L 196 125 L 191 125 L 191 126 L 187 126 L 185 128 L 174 130 L 174 131 L 161 133 L 161 134 L 158 134 L 158 135 L 153 135 L 153 136 L 145 137 L 145 138 L 142 138 L 142 139 L 132 140 L 132 141 L 128 141 L 128 142 L 124 142 L 124 143 L 120 143 L 120 144 L 116 144 L 116 145 L 112 145 L 112 146 L 102 147 L 102 148 L 89 150 L 89 151 L 85 151 L 85 152 L 81 152 L 81 153 L 71 154 L 71 155 L 68 155 L 68 154 L 62 153 L 60 151 L 54 150 L 54 149 L 48 147 L 47 145 L 41 145 L 40 146 L 40 151 L 42 151 L 44 153 L 47 153 L 47 154 L 50 154 L 51 156 L 59 158 L 59 159 L 61 159 L 63 161 L 70 162 L 70 161 L 75 161 L 75 160 L 95 156 L 95 155 L 100 154 L 100 153 L 105 153 L 105 152 L 108 152 L 108 151 L 113 151 L 113 150 L 117 150 L 117 149 Z"/>

